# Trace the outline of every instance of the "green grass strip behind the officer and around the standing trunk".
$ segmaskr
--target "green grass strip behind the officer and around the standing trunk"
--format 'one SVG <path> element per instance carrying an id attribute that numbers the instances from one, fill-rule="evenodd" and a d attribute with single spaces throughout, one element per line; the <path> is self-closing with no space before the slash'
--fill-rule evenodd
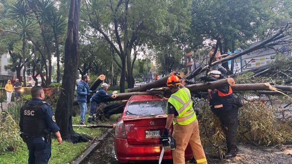
<path id="1" fill-rule="evenodd" d="M 116 121 L 120 114 L 111 116 L 110 121 Z M 86 114 L 85 118 L 88 118 Z M 80 122 L 80 116 L 72 118 L 73 125 L 78 125 Z M 106 122 L 100 122 L 101 124 L 108 124 Z M 73 127 L 76 133 L 82 133 L 91 136 L 92 138 L 99 138 L 103 134 L 104 128 L 86 128 L 86 127 Z M 73 162 L 82 152 L 90 146 L 90 142 L 82 142 L 72 144 L 71 142 L 63 141 L 61 145 L 57 145 L 57 139 L 52 138 L 52 154 L 49 160 L 49 164 L 66 164 Z M 27 163 L 28 150 L 26 144 L 22 145 L 16 151 L 4 152 L 0 154 L 0 164 L 23 164 Z"/>

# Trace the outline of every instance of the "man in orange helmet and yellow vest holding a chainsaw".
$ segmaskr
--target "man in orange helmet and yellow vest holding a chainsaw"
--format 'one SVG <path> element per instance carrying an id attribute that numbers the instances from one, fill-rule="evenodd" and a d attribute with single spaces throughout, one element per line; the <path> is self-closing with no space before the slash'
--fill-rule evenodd
<path id="1" fill-rule="evenodd" d="M 173 124 L 172 136 L 176 139 L 176 149 L 172 150 L 173 163 L 185 164 L 185 149 L 189 143 L 196 162 L 207 164 L 189 89 L 180 84 L 179 78 L 175 75 L 168 78 L 167 86 L 172 95 L 167 102 L 168 116 L 160 142 L 169 141 L 169 128 Z"/>

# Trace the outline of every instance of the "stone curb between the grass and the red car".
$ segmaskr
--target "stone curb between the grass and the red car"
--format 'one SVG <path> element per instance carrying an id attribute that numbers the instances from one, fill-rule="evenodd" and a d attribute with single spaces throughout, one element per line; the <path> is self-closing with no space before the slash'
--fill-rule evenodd
<path id="1" fill-rule="evenodd" d="M 107 138 L 109 137 L 111 134 L 110 133 L 113 133 L 115 131 L 116 127 L 114 126 L 112 129 L 108 129 L 107 132 L 104 132 L 98 139 L 99 140 L 102 140 L 104 138 Z M 110 132 L 110 133 L 108 133 Z M 93 152 L 95 152 L 99 146 L 101 145 L 101 141 L 97 141 L 96 143 L 92 144 L 89 148 L 87 148 L 85 150 L 85 152 L 83 152 L 81 155 L 78 156 L 78 158 L 72 162 L 71 164 L 81 164 L 82 162 L 84 162 L 87 157 L 89 155 L 91 155 Z"/>

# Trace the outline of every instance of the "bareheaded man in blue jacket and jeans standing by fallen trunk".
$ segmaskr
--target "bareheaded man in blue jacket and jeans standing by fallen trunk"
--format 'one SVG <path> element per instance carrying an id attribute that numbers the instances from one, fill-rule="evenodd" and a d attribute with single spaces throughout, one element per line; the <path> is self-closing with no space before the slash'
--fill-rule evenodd
<path id="1" fill-rule="evenodd" d="M 89 101 L 92 91 L 89 90 L 88 82 L 90 81 L 88 75 L 83 75 L 83 79 L 77 83 L 77 102 L 80 107 L 80 125 L 85 125 L 84 119 L 87 113 L 86 103 Z"/>

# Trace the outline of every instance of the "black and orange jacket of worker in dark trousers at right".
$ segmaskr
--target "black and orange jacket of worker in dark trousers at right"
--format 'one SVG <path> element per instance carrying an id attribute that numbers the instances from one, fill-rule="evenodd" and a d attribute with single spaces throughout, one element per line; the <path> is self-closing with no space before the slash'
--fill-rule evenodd
<path id="1" fill-rule="evenodd" d="M 231 88 L 229 87 L 229 92 L 231 92 L 231 94 L 223 94 L 221 93 L 221 95 L 219 95 L 220 91 L 214 91 L 212 93 L 212 98 L 210 98 L 210 106 L 212 111 L 229 111 L 232 109 L 232 105 L 236 105 L 234 103 L 228 102 L 228 99 L 234 99 L 234 95 L 232 93 L 232 90 L 230 90 Z M 223 105 L 223 107 L 221 108 L 215 108 L 215 105 Z"/>

